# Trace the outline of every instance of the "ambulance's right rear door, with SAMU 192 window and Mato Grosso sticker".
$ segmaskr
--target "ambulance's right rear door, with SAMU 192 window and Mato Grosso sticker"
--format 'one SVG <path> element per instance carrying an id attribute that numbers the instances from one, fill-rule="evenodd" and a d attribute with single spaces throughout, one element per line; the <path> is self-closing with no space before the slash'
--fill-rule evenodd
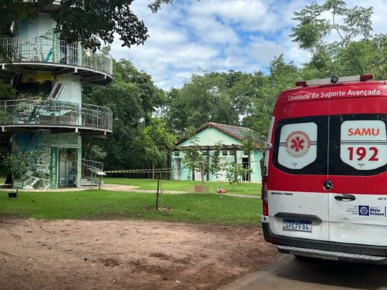
<path id="1" fill-rule="evenodd" d="M 387 246 L 386 88 L 343 86 L 346 97 L 330 99 L 331 242 Z"/>

